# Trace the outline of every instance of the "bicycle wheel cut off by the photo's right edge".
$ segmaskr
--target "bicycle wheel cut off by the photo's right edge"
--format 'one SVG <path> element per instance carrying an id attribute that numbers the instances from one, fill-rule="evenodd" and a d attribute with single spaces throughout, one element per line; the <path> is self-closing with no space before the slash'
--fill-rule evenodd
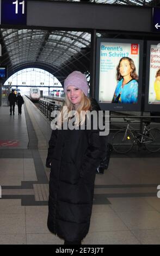
<path id="1" fill-rule="evenodd" d="M 144 144 L 150 152 L 157 152 L 160 149 L 160 131 L 158 129 L 150 129 L 145 137 Z"/>

